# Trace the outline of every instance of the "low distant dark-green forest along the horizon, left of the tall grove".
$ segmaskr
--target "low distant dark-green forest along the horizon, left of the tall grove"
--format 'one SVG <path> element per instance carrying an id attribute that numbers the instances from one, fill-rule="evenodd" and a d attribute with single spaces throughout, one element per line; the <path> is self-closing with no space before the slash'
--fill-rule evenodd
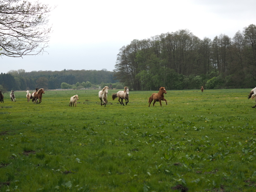
<path id="1" fill-rule="evenodd" d="M 63 71 L 32 71 L 24 69 L 11 70 L 7 74 L 0 74 L 0 89 L 35 90 L 36 87 L 45 89 L 61 88 L 98 88 L 99 86 L 118 86 L 114 79 L 115 72 L 102 69 L 96 70 L 66 70 Z M 123 88 L 123 85 L 119 87 Z"/>

